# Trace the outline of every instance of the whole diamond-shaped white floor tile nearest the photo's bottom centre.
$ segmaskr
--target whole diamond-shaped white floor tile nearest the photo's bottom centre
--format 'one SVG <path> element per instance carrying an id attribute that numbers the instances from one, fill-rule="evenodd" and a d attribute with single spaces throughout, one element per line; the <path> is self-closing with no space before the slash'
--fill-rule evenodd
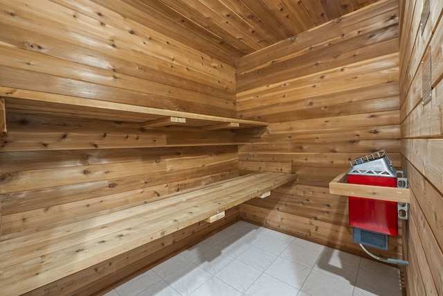
<path id="1" fill-rule="evenodd" d="M 242 261 L 234 260 L 215 276 L 244 293 L 261 274 L 260 270 L 246 265 Z"/>

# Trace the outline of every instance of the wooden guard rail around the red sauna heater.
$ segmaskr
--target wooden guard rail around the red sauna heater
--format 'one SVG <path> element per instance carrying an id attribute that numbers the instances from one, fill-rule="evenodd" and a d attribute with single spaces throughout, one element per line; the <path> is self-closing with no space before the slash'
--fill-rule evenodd
<path id="1" fill-rule="evenodd" d="M 341 173 L 329 182 L 329 193 L 389 202 L 410 202 L 410 190 L 407 188 L 348 184 L 347 172 Z"/>

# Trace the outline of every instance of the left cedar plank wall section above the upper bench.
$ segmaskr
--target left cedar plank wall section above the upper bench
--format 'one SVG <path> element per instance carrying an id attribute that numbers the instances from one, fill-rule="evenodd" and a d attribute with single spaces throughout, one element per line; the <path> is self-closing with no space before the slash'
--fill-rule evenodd
<path id="1" fill-rule="evenodd" d="M 2 0 L 2 85 L 235 117 L 233 67 L 152 31 L 124 1 L 106 2 Z"/>

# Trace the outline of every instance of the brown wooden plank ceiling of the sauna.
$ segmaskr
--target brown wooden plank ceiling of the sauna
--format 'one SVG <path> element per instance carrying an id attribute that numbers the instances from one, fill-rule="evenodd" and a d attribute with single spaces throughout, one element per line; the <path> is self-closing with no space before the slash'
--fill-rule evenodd
<path id="1" fill-rule="evenodd" d="M 118 5 L 92 1 L 125 17 L 143 15 L 137 21 L 233 64 L 237 58 L 379 0 L 121 0 Z"/>

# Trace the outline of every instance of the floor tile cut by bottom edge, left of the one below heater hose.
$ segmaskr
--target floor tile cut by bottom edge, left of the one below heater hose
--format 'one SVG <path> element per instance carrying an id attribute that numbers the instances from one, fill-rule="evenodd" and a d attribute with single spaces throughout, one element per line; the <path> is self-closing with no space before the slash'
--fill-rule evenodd
<path id="1" fill-rule="evenodd" d="M 354 286 L 312 270 L 301 290 L 311 296 L 352 296 Z"/>

